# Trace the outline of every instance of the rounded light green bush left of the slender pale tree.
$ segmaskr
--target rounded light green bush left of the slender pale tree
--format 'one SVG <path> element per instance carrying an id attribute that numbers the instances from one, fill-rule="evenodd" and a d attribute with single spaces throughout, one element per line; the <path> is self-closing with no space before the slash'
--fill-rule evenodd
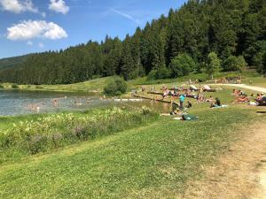
<path id="1" fill-rule="evenodd" d="M 173 78 L 188 75 L 196 68 L 196 63 L 188 54 L 180 54 L 171 60 L 169 65 Z"/>

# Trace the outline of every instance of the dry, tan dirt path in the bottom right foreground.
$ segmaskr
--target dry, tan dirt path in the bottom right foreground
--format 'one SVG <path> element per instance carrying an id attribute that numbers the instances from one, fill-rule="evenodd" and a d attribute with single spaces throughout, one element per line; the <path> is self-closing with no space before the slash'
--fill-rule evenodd
<path id="1" fill-rule="evenodd" d="M 266 122 L 246 129 L 216 165 L 204 168 L 206 179 L 192 181 L 182 198 L 266 199 Z"/>

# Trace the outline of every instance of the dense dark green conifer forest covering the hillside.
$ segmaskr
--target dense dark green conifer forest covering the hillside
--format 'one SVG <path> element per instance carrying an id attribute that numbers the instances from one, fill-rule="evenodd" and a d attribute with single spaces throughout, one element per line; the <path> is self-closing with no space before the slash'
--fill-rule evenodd
<path id="1" fill-rule="evenodd" d="M 243 67 L 266 73 L 265 0 L 189 0 L 122 41 L 106 35 L 102 42 L 30 54 L 0 70 L 0 80 L 70 84 L 111 75 L 160 79 Z"/>

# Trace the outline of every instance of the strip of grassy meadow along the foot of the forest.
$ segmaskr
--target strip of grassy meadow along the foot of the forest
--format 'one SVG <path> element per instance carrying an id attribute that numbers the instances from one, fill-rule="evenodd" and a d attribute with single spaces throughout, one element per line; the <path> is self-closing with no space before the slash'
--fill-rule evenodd
<path id="1" fill-rule="evenodd" d="M 219 80 L 223 77 L 239 77 L 243 78 L 242 82 L 254 86 L 266 86 L 265 78 L 262 78 L 258 73 L 253 70 L 247 70 L 243 73 L 230 72 L 230 73 L 219 73 L 215 75 L 215 79 Z M 15 89 L 25 89 L 25 90 L 47 90 L 47 91 L 62 91 L 62 92 L 102 92 L 103 88 L 106 86 L 109 80 L 113 77 L 98 78 L 94 80 L 88 80 L 81 83 L 74 83 L 69 85 L 18 85 Z M 140 85 L 176 85 L 177 83 L 184 83 L 188 80 L 208 80 L 206 73 L 192 73 L 189 76 L 184 76 L 176 79 L 166 79 L 166 80 L 147 80 L 147 77 L 137 78 L 136 80 L 129 80 L 127 82 L 128 89 L 139 88 Z M 4 89 L 14 89 L 12 88 L 12 83 L 1 84 Z"/>

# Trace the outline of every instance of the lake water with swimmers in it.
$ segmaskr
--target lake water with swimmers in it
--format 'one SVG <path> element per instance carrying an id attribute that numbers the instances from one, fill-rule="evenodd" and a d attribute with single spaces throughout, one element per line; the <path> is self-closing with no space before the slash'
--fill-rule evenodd
<path id="1" fill-rule="evenodd" d="M 56 111 L 85 111 L 105 105 L 125 105 L 141 107 L 143 105 L 160 111 L 169 111 L 166 103 L 154 103 L 149 100 L 142 102 L 114 102 L 113 99 L 101 100 L 99 96 L 81 93 L 57 93 L 43 91 L 0 91 L 0 115 L 23 115 Z"/>

